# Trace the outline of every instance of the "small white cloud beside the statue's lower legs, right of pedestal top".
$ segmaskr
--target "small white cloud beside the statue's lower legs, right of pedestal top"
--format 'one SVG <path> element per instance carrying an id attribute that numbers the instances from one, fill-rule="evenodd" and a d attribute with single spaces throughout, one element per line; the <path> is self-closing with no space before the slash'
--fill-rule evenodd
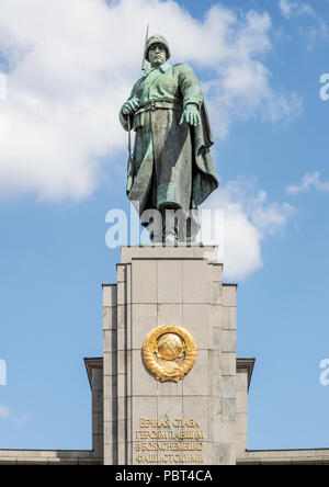
<path id="1" fill-rule="evenodd" d="M 243 280 L 262 268 L 262 240 L 282 230 L 294 213 L 287 203 L 270 202 L 265 191 L 245 178 L 222 186 L 203 207 L 224 211 L 218 258 L 229 280 Z"/>

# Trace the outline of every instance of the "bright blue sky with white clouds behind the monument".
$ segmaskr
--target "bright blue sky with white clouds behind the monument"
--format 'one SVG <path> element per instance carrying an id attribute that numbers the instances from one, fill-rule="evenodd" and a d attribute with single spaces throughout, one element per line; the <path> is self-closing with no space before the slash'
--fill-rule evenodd
<path id="1" fill-rule="evenodd" d="M 329 448 L 329 1 L 19 3 L 0 5 L 0 448 L 91 448 L 82 359 L 102 354 L 101 284 L 120 260 L 105 215 L 129 211 L 117 111 L 148 22 L 211 112 L 208 205 L 227 216 L 238 356 L 257 359 L 249 449 Z"/>

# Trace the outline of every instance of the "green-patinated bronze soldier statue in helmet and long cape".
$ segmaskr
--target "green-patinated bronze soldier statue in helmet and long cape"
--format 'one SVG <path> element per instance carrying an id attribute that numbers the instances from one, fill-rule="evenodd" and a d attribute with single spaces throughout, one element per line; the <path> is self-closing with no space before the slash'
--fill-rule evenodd
<path id="1" fill-rule="evenodd" d="M 120 121 L 125 131 L 135 131 L 127 196 L 140 217 L 146 209 L 160 211 L 166 222 L 161 239 L 175 244 L 178 222 L 166 220 L 166 213 L 180 211 L 186 219 L 195 220 L 192 211 L 218 186 L 218 178 L 200 82 L 189 65 L 171 66 L 169 58 L 170 48 L 162 35 L 147 39 L 145 59 L 150 69 L 134 86 Z"/>

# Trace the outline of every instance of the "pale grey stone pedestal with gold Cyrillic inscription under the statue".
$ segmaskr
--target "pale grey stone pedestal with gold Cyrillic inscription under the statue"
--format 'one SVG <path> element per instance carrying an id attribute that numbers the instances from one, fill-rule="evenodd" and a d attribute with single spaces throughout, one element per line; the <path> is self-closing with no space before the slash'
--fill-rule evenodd
<path id="1" fill-rule="evenodd" d="M 236 285 L 222 270 L 216 247 L 122 248 L 103 286 L 105 464 L 236 463 Z M 157 381 L 141 353 L 169 324 L 197 349 L 178 382 Z"/>

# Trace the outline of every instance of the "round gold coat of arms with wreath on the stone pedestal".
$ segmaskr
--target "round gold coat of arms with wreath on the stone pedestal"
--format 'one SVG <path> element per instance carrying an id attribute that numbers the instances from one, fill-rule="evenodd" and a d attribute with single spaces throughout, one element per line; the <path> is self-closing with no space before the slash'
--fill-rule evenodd
<path id="1" fill-rule="evenodd" d="M 196 360 L 192 336 L 177 325 L 164 325 L 148 333 L 143 346 L 143 359 L 157 381 L 178 382 L 191 371 Z"/>

